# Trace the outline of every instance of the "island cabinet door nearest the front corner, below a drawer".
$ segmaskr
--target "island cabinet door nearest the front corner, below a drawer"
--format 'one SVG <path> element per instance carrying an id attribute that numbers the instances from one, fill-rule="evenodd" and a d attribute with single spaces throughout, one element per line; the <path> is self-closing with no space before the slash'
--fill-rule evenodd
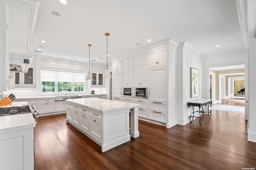
<path id="1" fill-rule="evenodd" d="M 93 138 L 102 143 L 102 121 L 90 117 L 90 134 Z"/>

